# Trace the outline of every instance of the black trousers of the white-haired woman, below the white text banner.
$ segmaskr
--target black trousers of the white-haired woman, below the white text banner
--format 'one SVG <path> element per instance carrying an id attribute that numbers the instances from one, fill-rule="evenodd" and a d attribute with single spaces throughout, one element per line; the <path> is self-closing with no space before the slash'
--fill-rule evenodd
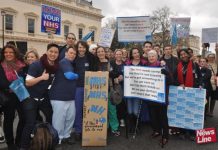
<path id="1" fill-rule="evenodd" d="M 167 106 L 161 104 L 149 104 L 151 127 L 154 132 L 162 134 L 163 138 L 169 137 L 169 125 L 167 118 Z"/>

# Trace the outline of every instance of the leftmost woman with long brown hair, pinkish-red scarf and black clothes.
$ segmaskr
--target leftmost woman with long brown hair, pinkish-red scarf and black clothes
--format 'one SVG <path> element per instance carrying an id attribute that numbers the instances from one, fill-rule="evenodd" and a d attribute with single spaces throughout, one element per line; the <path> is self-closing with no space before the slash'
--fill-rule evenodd
<path id="1" fill-rule="evenodd" d="M 6 45 L 1 51 L 0 59 L 0 90 L 8 97 L 9 101 L 4 106 L 4 133 L 9 150 L 16 150 L 20 145 L 22 130 L 24 126 L 22 106 L 18 97 L 13 93 L 9 86 L 18 79 L 18 76 L 24 76 L 23 68 L 25 64 L 19 59 L 20 53 L 13 45 Z M 13 122 L 15 111 L 18 112 L 19 122 L 14 141 Z"/>

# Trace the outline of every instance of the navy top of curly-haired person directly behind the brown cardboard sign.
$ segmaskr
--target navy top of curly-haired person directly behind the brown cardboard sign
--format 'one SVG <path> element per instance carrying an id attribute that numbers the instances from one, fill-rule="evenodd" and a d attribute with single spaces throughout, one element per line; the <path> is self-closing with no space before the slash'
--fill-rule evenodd
<path id="1" fill-rule="evenodd" d="M 89 71 L 89 62 L 87 56 L 77 57 L 75 60 L 76 68 L 75 71 L 79 75 L 77 80 L 77 87 L 84 87 L 85 71 Z"/>

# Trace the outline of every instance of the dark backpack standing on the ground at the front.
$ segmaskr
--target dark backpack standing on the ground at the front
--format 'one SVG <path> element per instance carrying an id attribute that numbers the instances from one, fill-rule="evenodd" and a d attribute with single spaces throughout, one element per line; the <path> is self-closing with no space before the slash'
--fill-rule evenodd
<path id="1" fill-rule="evenodd" d="M 58 132 L 49 123 L 36 124 L 31 138 L 31 150 L 54 150 L 59 142 Z"/>

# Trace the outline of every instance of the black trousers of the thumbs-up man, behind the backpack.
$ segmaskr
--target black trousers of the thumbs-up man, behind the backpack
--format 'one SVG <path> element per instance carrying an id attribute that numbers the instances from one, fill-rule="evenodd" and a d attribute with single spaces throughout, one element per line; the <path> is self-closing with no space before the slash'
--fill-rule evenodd
<path id="1" fill-rule="evenodd" d="M 36 101 L 33 98 L 26 99 L 22 102 L 25 126 L 23 129 L 21 148 L 29 148 L 30 135 L 33 132 L 36 125 L 36 118 L 38 111 L 41 110 L 46 117 L 46 122 L 52 124 L 52 106 L 50 100 L 46 96 L 42 101 Z"/>

